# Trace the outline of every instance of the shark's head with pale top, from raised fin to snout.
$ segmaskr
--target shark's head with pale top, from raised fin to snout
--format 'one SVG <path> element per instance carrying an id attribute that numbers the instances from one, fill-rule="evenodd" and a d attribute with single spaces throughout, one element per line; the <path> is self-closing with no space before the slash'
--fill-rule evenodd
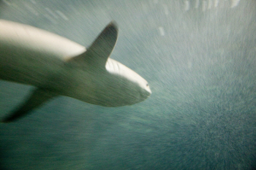
<path id="1" fill-rule="evenodd" d="M 102 88 L 106 90 L 101 96 L 105 98 L 103 106 L 120 107 L 136 104 L 151 95 L 148 82 L 132 69 L 112 59 L 108 59 L 105 67 L 108 76 L 102 77 L 105 81 L 102 82 Z"/>

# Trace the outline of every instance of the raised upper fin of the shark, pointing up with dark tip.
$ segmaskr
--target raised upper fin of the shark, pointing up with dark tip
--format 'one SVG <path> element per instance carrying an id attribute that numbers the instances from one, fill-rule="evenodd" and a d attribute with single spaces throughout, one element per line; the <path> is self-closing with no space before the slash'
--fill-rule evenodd
<path id="1" fill-rule="evenodd" d="M 105 69 L 108 57 L 116 45 L 117 36 L 118 28 L 116 23 L 112 21 L 105 27 L 101 34 L 99 34 L 86 52 L 75 56 L 74 58 L 70 58 L 67 62 Z"/>

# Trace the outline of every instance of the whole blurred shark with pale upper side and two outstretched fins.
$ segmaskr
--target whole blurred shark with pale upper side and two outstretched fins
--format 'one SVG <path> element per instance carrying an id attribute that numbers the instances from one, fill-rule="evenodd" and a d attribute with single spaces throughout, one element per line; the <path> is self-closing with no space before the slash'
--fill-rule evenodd
<path id="1" fill-rule="evenodd" d="M 144 101 L 151 95 L 148 82 L 109 58 L 117 37 L 118 28 L 112 21 L 86 50 L 57 34 L 0 20 L 0 80 L 35 87 L 1 122 L 18 120 L 56 96 L 103 107 Z"/>

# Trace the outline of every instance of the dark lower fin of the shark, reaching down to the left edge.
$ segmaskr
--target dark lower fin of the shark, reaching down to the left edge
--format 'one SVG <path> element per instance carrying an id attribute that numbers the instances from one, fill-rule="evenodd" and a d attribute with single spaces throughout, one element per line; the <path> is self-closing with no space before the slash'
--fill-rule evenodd
<path id="1" fill-rule="evenodd" d="M 32 109 L 39 107 L 45 101 L 48 101 L 50 98 L 57 96 L 56 93 L 53 93 L 50 90 L 44 88 L 37 88 L 31 93 L 31 96 L 11 115 L 5 117 L 1 120 L 1 123 L 10 123 L 14 120 L 18 120 L 20 117 L 28 115 Z"/>

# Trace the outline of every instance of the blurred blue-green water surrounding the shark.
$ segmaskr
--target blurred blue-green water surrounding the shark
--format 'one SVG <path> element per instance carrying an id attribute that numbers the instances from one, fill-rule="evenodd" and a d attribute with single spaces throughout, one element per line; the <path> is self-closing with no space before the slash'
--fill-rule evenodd
<path id="1" fill-rule="evenodd" d="M 1 0 L 1 19 L 86 47 L 116 20 L 110 58 L 152 94 L 116 108 L 60 96 L 1 124 L 0 169 L 255 169 L 255 17 L 254 0 Z M 0 117 L 33 89 L 0 81 Z"/>

